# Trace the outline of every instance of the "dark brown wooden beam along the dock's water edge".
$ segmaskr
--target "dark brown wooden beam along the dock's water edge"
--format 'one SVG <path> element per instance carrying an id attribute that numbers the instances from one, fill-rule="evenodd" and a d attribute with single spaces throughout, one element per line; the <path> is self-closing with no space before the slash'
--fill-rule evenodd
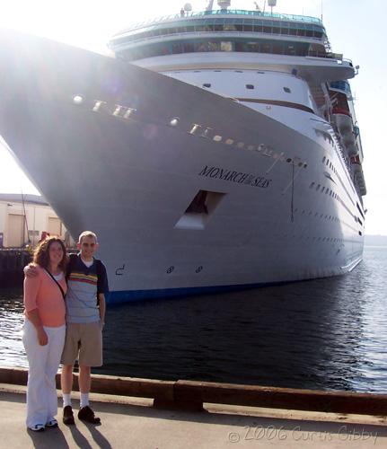
<path id="1" fill-rule="evenodd" d="M 0 383 L 26 385 L 28 370 L 0 367 Z M 74 374 L 74 390 L 78 390 Z M 57 388 L 60 376 L 57 374 Z M 203 403 L 387 416 L 387 394 L 322 392 L 233 383 L 160 381 L 92 374 L 92 392 L 154 399 L 154 407 L 201 410 Z"/>

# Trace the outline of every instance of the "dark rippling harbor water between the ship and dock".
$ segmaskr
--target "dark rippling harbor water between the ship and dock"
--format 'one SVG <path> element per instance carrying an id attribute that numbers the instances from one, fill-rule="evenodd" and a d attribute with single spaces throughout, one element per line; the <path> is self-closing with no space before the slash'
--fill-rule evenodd
<path id="1" fill-rule="evenodd" d="M 386 266 L 366 247 L 344 277 L 111 307 L 95 372 L 387 392 Z M 21 295 L 0 290 L 0 365 L 27 365 Z"/>

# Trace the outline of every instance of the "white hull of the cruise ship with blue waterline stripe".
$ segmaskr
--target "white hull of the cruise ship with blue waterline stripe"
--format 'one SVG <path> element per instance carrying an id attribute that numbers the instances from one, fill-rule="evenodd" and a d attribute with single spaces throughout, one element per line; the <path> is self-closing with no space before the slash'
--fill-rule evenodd
<path id="1" fill-rule="evenodd" d="M 361 201 L 312 112 L 296 111 L 297 128 L 292 108 L 280 122 L 109 57 L 1 39 L 0 134 L 67 229 L 99 235 L 111 302 L 335 276 L 361 260 Z M 199 190 L 215 206 L 186 213 Z"/>

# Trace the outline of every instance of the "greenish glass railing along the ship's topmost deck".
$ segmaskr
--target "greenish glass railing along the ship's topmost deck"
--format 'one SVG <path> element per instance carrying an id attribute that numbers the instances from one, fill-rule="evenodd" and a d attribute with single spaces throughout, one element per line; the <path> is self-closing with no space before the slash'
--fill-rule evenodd
<path id="1" fill-rule="evenodd" d="M 245 17 L 258 18 L 264 17 L 268 19 L 277 19 L 277 20 L 286 20 L 286 21 L 295 21 L 295 22 L 309 22 L 309 23 L 317 23 L 322 25 L 322 22 L 317 17 L 310 17 L 306 15 L 296 15 L 296 14 L 283 14 L 283 13 L 268 13 L 262 11 L 247 11 L 242 9 L 231 9 L 231 10 L 213 10 L 213 11 L 199 11 L 199 12 L 188 12 L 182 14 L 171 14 L 171 15 L 163 15 L 161 17 L 157 17 L 145 22 L 139 22 L 131 25 L 125 30 L 119 31 L 119 33 L 115 34 L 118 36 L 119 34 L 125 31 L 134 31 L 137 29 L 145 28 L 146 26 L 154 25 L 156 23 L 170 22 L 178 19 L 189 19 L 189 18 L 200 18 L 200 17 L 211 17 L 211 16 L 219 16 L 219 15 L 242 15 Z M 114 37 L 115 37 L 114 36 Z"/>

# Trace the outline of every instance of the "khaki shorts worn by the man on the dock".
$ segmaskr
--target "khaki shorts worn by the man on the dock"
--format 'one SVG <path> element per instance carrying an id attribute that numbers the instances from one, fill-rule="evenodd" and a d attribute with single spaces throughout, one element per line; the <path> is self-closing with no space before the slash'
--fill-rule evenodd
<path id="1" fill-rule="evenodd" d="M 101 322 L 67 322 L 65 348 L 61 363 L 74 365 L 75 360 L 83 366 L 102 365 Z"/>

